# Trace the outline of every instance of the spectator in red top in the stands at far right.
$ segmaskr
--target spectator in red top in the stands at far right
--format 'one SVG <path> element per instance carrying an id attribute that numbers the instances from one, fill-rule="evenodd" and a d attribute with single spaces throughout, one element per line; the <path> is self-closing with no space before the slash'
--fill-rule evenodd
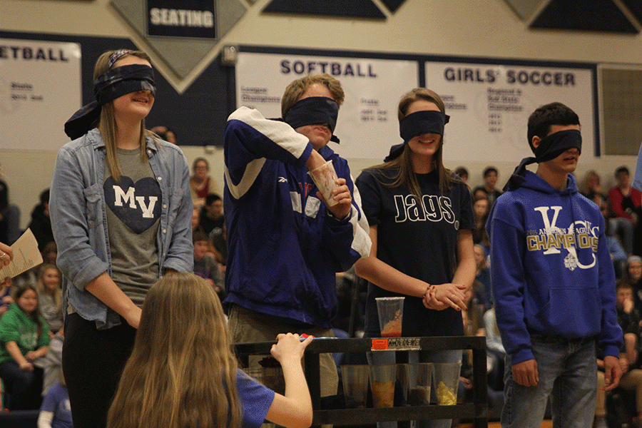
<path id="1" fill-rule="evenodd" d="M 622 246 L 628 255 L 633 254 L 633 236 L 641 214 L 642 193 L 631 187 L 628 168 L 616 169 L 617 184 L 608 191 L 611 207 L 611 234 L 621 236 Z"/>

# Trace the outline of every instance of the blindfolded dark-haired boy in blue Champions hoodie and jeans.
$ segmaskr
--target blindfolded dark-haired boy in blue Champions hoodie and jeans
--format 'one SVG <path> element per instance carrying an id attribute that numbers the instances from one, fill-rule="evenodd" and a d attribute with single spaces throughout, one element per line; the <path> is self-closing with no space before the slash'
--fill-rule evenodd
<path id="1" fill-rule="evenodd" d="M 595 203 L 578 190 L 579 118 L 561 103 L 529 117 L 534 158 L 516 168 L 489 215 L 491 284 L 506 348 L 501 426 L 539 427 L 553 398 L 556 427 L 591 427 L 596 343 L 606 389 L 617 386 L 622 331 L 615 275 Z M 538 163 L 536 173 L 526 170 Z"/>

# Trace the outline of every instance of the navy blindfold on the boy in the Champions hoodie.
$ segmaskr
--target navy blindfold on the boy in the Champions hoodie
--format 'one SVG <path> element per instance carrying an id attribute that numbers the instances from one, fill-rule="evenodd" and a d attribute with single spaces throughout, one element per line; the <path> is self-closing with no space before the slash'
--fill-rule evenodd
<path id="1" fill-rule="evenodd" d="M 534 149 L 534 158 L 524 158 L 515 168 L 514 173 L 504 186 L 504 192 L 519 188 L 526 180 L 526 165 L 551 161 L 570 148 L 576 148 L 582 153 L 582 134 L 576 129 L 567 129 L 551 133 L 541 139 L 539 146 Z"/>

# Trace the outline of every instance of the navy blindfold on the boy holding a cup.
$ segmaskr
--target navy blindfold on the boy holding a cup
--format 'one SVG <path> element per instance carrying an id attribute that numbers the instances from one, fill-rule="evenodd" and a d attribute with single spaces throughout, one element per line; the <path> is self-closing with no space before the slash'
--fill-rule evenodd
<path id="1" fill-rule="evenodd" d="M 326 124 L 332 133 L 330 141 L 339 142 L 334 135 L 339 116 L 339 104 L 332 98 L 325 96 L 310 96 L 297 101 L 287 113 L 284 121 L 292 128 L 300 128 L 307 125 Z"/>

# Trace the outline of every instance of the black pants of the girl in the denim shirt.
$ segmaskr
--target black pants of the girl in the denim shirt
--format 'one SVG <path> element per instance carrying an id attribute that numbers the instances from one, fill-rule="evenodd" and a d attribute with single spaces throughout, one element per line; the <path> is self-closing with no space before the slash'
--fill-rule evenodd
<path id="1" fill-rule="evenodd" d="M 107 330 L 74 313 L 66 317 L 62 365 L 75 428 L 105 428 L 107 412 L 136 329 L 125 320 Z"/>

